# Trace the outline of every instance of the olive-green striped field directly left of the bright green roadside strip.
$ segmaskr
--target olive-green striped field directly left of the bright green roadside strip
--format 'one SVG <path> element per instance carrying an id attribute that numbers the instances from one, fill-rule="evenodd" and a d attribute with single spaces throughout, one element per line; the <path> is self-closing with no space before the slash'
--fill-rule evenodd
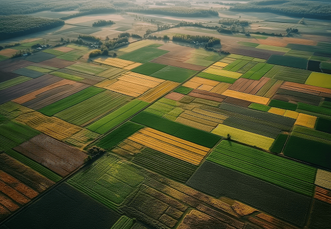
<path id="1" fill-rule="evenodd" d="M 104 91 L 85 101 L 58 112 L 55 116 L 75 125 L 87 125 L 96 118 L 124 105 L 130 97 Z"/>

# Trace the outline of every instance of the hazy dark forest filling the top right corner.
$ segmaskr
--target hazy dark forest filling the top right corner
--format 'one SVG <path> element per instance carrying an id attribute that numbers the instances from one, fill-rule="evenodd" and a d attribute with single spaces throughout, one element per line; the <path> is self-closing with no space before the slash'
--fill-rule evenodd
<path id="1" fill-rule="evenodd" d="M 308 17 L 318 19 L 331 19 L 331 4 L 329 1 L 322 3 L 321 0 L 301 1 L 301 0 L 261 0 L 252 1 L 245 4 L 236 4 L 231 7 L 232 11 L 243 12 L 270 12 L 284 14 L 294 17 Z"/>

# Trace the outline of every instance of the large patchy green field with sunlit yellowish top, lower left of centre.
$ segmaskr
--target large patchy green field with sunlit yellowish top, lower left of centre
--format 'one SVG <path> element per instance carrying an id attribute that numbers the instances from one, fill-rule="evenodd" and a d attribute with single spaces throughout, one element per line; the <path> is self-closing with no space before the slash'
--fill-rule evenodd
<path id="1" fill-rule="evenodd" d="M 67 182 L 108 208 L 116 210 L 144 179 L 144 174 L 136 166 L 106 155 Z"/>

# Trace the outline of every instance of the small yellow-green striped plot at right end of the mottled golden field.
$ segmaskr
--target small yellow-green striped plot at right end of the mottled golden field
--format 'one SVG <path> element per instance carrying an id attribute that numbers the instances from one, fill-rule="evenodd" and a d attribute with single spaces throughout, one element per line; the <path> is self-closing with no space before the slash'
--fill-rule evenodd
<path id="1" fill-rule="evenodd" d="M 82 150 L 86 146 L 88 146 L 91 141 L 95 140 L 99 136 L 100 134 L 98 133 L 92 132 L 87 129 L 82 129 L 71 137 L 67 138 L 65 142 L 67 142 L 71 146 L 77 147 L 79 150 Z"/>

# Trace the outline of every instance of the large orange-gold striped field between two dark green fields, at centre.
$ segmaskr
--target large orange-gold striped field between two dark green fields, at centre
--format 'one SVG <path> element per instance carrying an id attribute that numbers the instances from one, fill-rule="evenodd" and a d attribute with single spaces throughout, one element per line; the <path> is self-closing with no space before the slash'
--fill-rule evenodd
<path id="1" fill-rule="evenodd" d="M 210 150 L 152 128 L 144 128 L 127 139 L 196 165 L 200 164 Z"/>

